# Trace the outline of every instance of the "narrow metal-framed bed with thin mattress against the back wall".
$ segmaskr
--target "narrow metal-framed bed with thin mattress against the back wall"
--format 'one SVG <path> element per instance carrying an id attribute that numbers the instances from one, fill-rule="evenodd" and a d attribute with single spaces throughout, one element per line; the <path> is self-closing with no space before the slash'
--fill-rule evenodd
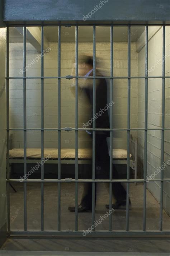
<path id="1" fill-rule="evenodd" d="M 12 135 L 10 137 L 12 141 Z M 11 142 L 10 142 L 11 145 Z M 44 164 L 58 164 L 58 149 L 57 148 L 44 148 L 44 158 L 50 155 L 50 158 Z M 113 149 L 113 164 L 127 164 L 127 150 L 126 149 Z M 134 178 L 137 178 L 137 139 L 130 139 L 130 167 L 134 172 Z M 24 163 L 24 149 L 13 148 L 9 150 L 10 166 L 15 164 Z M 27 148 L 27 164 L 35 164 L 41 162 L 41 148 Z M 80 148 L 78 149 L 78 164 L 91 164 L 92 163 L 92 149 Z M 61 148 L 61 164 L 75 164 L 75 149 L 74 148 Z"/>

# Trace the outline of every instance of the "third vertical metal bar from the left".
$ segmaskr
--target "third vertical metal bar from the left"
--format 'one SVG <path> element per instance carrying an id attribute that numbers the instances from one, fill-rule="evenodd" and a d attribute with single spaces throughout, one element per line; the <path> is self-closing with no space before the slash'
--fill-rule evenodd
<path id="1" fill-rule="evenodd" d="M 41 162 L 44 160 L 44 26 L 41 26 Z M 41 230 L 44 230 L 44 164 L 41 165 Z"/>

